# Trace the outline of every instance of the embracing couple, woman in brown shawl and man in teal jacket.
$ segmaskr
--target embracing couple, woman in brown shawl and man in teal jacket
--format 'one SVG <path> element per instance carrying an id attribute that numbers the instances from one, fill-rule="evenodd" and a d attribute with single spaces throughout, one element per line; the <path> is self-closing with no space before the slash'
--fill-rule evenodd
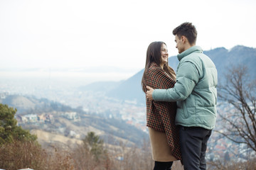
<path id="1" fill-rule="evenodd" d="M 152 42 L 142 77 L 154 170 L 171 169 L 175 160 L 185 170 L 206 169 L 207 142 L 216 121 L 217 70 L 196 46 L 192 23 L 182 23 L 173 34 L 177 74 L 168 65 L 166 44 Z"/>

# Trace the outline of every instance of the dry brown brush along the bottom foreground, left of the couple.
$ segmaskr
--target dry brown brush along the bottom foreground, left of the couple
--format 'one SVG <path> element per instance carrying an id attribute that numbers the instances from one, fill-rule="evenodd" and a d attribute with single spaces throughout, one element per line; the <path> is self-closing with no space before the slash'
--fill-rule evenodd
<path id="1" fill-rule="evenodd" d="M 14 142 L 1 145 L 0 169 L 17 170 L 31 168 L 36 170 L 137 170 L 153 169 L 151 149 L 148 143 L 142 149 L 127 147 L 123 144 L 117 150 L 105 152 L 100 159 L 78 145 L 75 149 L 65 150 L 58 147 L 41 148 L 35 142 Z M 124 159 L 119 160 L 117 156 Z M 183 169 L 179 162 L 174 162 L 173 169 Z"/>

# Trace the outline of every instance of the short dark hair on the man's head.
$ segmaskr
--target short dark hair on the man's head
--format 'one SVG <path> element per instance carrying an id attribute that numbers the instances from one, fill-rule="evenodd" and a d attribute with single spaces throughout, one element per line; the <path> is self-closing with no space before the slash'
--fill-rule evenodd
<path id="1" fill-rule="evenodd" d="M 181 23 L 180 26 L 173 30 L 173 34 L 178 36 L 178 39 L 181 39 L 181 36 L 185 36 L 188 39 L 190 45 L 196 44 L 197 31 L 196 27 L 192 23 Z"/>

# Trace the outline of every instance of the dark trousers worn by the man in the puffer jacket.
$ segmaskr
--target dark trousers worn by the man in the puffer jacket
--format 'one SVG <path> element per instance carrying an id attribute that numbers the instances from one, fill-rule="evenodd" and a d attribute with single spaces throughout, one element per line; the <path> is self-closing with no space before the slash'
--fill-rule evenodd
<path id="1" fill-rule="evenodd" d="M 206 170 L 206 148 L 212 130 L 179 126 L 184 170 Z"/>

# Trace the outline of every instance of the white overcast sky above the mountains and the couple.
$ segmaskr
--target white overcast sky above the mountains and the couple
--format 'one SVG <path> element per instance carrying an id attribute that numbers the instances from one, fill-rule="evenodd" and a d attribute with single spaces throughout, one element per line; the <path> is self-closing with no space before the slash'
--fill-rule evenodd
<path id="1" fill-rule="evenodd" d="M 172 30 L 198 30 L 204 50 L 256 47 L 255 0 L 0 0 L 0 68 L 144 68 L 161 40 L 177 55 Z"/>

